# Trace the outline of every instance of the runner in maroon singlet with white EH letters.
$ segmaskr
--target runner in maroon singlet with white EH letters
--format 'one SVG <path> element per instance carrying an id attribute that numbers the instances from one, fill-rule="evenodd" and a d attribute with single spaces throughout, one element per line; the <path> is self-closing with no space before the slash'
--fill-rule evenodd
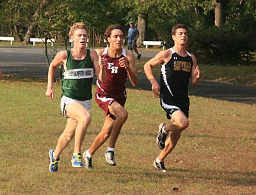
<path id="1" fill-rule="evenodd" d="M 106 162 L 115 166 L 115 144 L 127 120 L 128 113 L 124 108 L 126 100 L 125 83 L 127 77 L 132 86 L 138 84 L 138 74 L 135 60 L 131 51 L 122 49 L 124 29 L 118 25 L 107 27 L 104 37 L 108 42 L 105 49 L 96 49 L 99 59 L 106 60 L 106 79 L 104 83 L 97 81 L 95 100 L 106 115 L 100 133 L 95 137 L 92 145 L 83 154 L 86 168 L 92 169 L 92 155 L 109 138 L 108 149 L 105 152 Z"/>

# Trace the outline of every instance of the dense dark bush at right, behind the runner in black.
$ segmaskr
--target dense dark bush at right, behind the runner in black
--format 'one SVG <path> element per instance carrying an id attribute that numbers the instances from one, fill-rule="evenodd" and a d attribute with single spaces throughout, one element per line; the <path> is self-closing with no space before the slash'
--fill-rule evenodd
<path id="1" fill-rule="evenodd" d="M 243 33 L 227 27 L 211 27 L 189 35 L 190 50 L 214 61 L 252 60 L 256 38 L 252 31 Z"/>

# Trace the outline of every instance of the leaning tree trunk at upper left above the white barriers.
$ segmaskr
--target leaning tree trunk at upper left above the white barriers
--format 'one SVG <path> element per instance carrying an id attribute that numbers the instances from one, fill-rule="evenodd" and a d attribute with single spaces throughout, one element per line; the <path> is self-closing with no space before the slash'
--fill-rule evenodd
<path id="1" fill-rule="evenodd" d="M 24 41 L 22 42 L 22 44 L 26 44 L 28 45 L 29 42 L 30 42 L 30 37 L 33 33 L 33 29 L 35 28 L 36 26 L 36 20 L 37 20 L 37 17 L 39 15 L 39 12 L 45 7 L 47 6 L 47 0 L 43 0 L 42 3 L 40 4 L 40 6 L 38 6 L 38 8 L 36 9 L 36 12 L 34 13 L 33 15 L 33 22 L 31 22 L 31 24 L 29 24 L 29 27 L 28 27 L 28 31 L 26 32 L 26 35 L 24 36 Z"/>

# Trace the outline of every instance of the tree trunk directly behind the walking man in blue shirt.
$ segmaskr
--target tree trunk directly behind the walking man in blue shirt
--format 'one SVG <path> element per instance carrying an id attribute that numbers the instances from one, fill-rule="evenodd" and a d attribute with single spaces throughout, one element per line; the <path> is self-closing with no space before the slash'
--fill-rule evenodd
<path id="1" fill-rule="evenodd" d="M 143 45 L 143 40 L 147 37 L 147 15 L 138 15 L 138 30 L 140 32 L 137 38 L 137 45 L 141 47 Z"/>

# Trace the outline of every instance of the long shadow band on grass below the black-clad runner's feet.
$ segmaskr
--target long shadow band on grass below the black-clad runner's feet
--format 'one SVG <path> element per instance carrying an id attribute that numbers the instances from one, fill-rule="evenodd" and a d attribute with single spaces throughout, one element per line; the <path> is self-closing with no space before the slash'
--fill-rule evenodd
<path id="1" fill-rule="evenodd" d="M 255 171 L 216 171 L 209 169 L 168 169 L 166 173 L 161 173 L 157 171 L 152 166 L 152 169 L 141 169 L 134 166 L 125 166 L 120 169 L 115 169 L 115 174 L 118 175 L 129 175 L 130 178 L 123 178 L 122 180 L 118 180 L 120 183 L 129 183 L 135 182 L 138 180 L 138 176 L 140 176 L 140 182 L 146 183 L 150 182 L 150 180 L 170 180 L 173 178 L 174 180 L 200 180 L 202 182 L 207 183 L 215 183 L 218 185 L 243 185 L 248 187 L 256 186 L 256 172 Z M 133 170 L 133 171 L 131 171 Z M 102 169 L 101 174 L 109 173 L 109 170 Z M 134 176 L 132 176 L 134 175 Z"/>

